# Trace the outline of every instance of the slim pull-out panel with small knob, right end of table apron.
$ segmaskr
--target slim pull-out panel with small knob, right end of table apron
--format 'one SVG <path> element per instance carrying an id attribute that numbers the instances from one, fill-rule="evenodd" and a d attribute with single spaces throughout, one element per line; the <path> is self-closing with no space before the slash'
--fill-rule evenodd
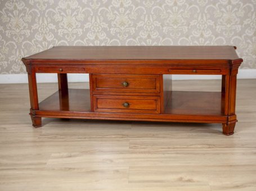
<path id="1" fill-rule="evenodd" d="M 169 69 L 170 74 L 221 74 L 219 69 Z"/>

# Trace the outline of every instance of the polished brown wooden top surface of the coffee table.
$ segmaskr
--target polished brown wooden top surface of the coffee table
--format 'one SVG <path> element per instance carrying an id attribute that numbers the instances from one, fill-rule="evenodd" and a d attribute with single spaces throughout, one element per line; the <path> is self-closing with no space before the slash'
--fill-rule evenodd
<path id="1" fill-rule="evenodd" d="M 237 60 L 233 46 L 57 46 L 24 60 Z"/>

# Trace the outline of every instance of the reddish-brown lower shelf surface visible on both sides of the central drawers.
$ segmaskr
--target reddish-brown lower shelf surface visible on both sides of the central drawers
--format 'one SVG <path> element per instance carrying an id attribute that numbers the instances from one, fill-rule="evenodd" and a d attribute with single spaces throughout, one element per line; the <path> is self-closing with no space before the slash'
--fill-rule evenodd
<path id="1" fill-rule="evenodd" d="M 157 115 L 224 117 L 224 98 L 221 92 L 173 91 L 169 94 L 170 99 L 165 104 L 164 113 Z M 57 91 L 39 103 L 39 111 L 90 112 L 90 107 L 89 89 L 69 89 L 64 93 Z"/>

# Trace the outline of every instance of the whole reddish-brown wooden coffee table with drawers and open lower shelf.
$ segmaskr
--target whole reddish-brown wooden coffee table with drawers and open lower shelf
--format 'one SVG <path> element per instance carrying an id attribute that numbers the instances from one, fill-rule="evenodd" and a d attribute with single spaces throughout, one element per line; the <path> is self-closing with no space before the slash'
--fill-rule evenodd
<path id="1" fill-rule="evenodd" d="M 42 117 L 221 123 L 235 128 L 232 46 L 59 46 L 22 59 L 29 78 L 33 126 Z M 38 103 L 36 73 L 56 73 L 59 90 Z M 89 89 L 69 89 L 67 73 L 89 74 Z M 172 74 L 222 75 L 219 92 L 172 91 Z"/>

